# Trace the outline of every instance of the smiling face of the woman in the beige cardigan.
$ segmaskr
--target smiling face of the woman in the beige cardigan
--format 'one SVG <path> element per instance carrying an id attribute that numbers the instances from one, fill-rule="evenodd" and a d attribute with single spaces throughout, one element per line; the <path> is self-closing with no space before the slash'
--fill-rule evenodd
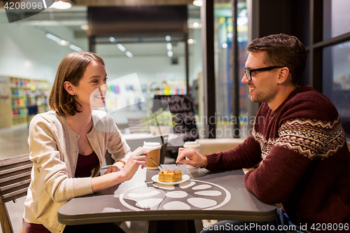
<path id="1" fill-rule="evenodd" d="M 73 87 L 76 101 L 82 110 L 87 108 L 92 111 L 106 106 L 105 97 L 109 90 L 106 80 L 107 73 L 102 63 L 92 60 L 87 64 L 83 77 Z"/>

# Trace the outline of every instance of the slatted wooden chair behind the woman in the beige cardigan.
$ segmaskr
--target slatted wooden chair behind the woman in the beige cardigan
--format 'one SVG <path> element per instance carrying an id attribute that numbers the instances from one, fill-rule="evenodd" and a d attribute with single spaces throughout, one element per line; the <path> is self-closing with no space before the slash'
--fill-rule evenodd
<path id="1" fill-rule="evenodd" d="M 0 220 L 3 233 L 13 233 L 5 204 L 27 195 L 31 167 L 33 163 L 29 160 L 29 154 L 0 160 Z"/>

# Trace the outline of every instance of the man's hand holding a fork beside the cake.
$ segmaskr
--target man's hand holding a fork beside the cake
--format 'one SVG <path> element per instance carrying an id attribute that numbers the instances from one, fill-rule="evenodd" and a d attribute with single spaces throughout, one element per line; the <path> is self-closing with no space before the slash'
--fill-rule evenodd
<path id="1" fill-rule="evenodd" d="M 188 164 L 193 167 L 204 167 L 205 158 L 192 148 L 179 148 L 179 155 L 176 158 L 177 163 Z"/>

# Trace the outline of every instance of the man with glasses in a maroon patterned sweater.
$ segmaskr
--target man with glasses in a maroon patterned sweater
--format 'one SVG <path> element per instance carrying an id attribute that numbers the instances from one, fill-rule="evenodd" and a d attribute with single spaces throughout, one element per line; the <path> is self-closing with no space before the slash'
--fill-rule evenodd
<path id="1" fill-rule="evenodd" d="M 335 106 L 311 87 L 297 86 L 307 60 L 304 45 L 295 36 L 276 34 L 255 39 L 247 50 L 241 82 L 248 85 L 251 101 L 262 102 L 253 132 L 237 148 L 211 155 L 180 148 L 176 162 L 217 171 L 262 161 L 244 176 L 246 188 L 262 202 L 282 207 L 276 220 L 261 225 L 348 232 L 350 153 Z M 218 225 L 225 223 L 248 224 Z"/>

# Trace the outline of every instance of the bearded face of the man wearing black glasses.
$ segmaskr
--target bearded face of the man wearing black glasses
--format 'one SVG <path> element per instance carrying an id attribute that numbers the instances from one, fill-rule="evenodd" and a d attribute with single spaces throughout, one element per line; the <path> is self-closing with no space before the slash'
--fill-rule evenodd
<path id="1" fill-rule="evenodd" d="M 259 69 L 269 65 L 264 63 L 265 52 L 250 52 L 246 59 L 246 69 Z M 276 78 L 279 75 L 280 69 L 271 71 L 255 71 L 251 72 L 251 81 L 246 75 L 241 79 L 241 83 L 246 83 L 251 94 L 251 101 L 267 104 L 272 103 L 276 97 Z"/>

